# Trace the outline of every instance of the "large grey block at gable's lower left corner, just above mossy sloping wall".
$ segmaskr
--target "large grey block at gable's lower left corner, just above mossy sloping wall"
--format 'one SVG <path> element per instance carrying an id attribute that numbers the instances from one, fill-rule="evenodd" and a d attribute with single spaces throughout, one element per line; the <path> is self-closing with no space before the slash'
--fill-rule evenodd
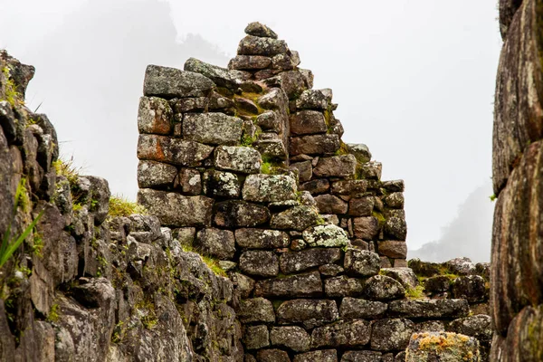
<path id="1" fill-rule="evenodd" d="M 157 215 L 161 224 L 181 227 L 211 224 L 214 200 L 142 188 L 138 191 L 138 203 L 144 205 L 149 214 Z"/>

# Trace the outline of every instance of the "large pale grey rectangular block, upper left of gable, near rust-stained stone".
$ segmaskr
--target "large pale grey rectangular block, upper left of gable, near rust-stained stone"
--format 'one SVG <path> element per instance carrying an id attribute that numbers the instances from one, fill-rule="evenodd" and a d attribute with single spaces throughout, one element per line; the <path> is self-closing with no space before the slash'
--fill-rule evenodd
<path id="1" fill-rule="evenodd" d="M 238 145 L 242 138 L 242 119 L 224 113 L 186 113 L 183 137 L 211 145 Z"/>

